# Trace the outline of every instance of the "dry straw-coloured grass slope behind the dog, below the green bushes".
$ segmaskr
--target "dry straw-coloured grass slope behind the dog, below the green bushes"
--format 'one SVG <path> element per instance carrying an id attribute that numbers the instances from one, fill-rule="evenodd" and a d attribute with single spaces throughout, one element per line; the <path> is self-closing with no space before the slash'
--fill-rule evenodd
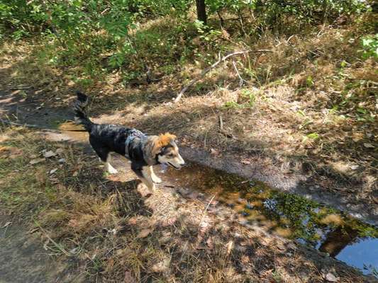
<path id="1" fill-rule="evenodd" d="M 36 40 L 2 46 L 4 89 L 30 85 L 33 91 L 17 94 L 62 108 L 72 102 L 75 88 L 85 88 L 94 98 L 91 113 L 96 121 L 174 132 L 184 144 L 216 152 L 262 156 L 284 173 L 306 173 L 316 182 L 324 177 L 343 181 L 343 193 L 351 200 L 377 206 L 377 62 L 362 60 L 359 52 L 360 37 L 373 33 L 366 24 L 376 21 L 374 16 L 290 37 L 267 32 L 259 40 L 246 37 L 238 44 L 230 40 L 232 34 L 223 33 L 214 42 L 226 49 L 272 52 L 235 58 L 247 81 L 243 87 L 228 62 L 199 81 L 179 104 L 172 104 L 172 98 L 187 79 L 214 60 L 217 47 L 201 43 L 195 30 L 187 30 L 190 42 L 177 37 L 177 50 L 153 40 L 150 46 L 148 38 L 155 38 L 157 30 L 164 30 L 162 40 L 168 39 L 167 26 L 174 21 L 160 18 L 133 31 L 140 53 L 130 59 L 130 70 L 140 71 L 138 64 L 147 62 L 161 81 L 147 84 L 140 74 L 125 87 L 124 74 L 113 71 L 86 84 L 89 77 L 83 67 L 47 64 L 51 50 Z M 177 52 L 184 47 L 193 56 L 209 56 L 179 63 Z M 333 190 L 333 185 L 329 187 Z M 355 187 L 361 190 L 356 192 Z"/>

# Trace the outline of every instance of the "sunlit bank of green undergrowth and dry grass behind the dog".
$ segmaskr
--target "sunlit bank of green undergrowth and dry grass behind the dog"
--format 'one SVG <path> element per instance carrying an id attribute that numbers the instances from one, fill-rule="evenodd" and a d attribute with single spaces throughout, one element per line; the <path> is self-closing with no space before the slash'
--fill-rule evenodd
<path id="1" fill-rule="evenodd" d="M 374 4 L 209 1 L 204 25 L 187 1 L 121 2 L 6 9 L 4 89 L 31 86 L 18 94 L 61 108 L 79 88 L 94 98 L 92 113 L 110 122 L 171 130 L 212 152 L 269 158 L 285 173 L 340 180 L 345 195 L 362 187 L 358 198 L 378 203 Z M 11 21 L 24 17 L 27 24 Z M 172 105 L 201 70 L 238 50 L 251 52 L 220 64 Z"/>

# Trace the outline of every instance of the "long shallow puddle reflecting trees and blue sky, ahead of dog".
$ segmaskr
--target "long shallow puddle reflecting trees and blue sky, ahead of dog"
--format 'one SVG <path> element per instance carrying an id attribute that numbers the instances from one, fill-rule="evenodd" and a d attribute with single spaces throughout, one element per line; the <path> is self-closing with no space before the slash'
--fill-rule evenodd
<path id="1" fill-rule="evenodd" d="M 374 226 L 304 197 L 199 164 L 168 170 L 165 175 L 182 187 L 215 195 L 215 200 L 240 214 L 244 224 L 295 239 L 378 277 L 378 229 Z"/>

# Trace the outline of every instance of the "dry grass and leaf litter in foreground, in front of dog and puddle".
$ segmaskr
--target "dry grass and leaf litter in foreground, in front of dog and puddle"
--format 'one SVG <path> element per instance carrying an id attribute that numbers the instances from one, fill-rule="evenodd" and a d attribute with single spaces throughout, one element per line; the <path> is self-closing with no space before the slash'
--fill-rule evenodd
<path id="1" fill-rule="evenodd" d="M 1 134 L 8 137 L 1 146 L 17 149 L 7 152 L 23 152 L 0 158 L 2 209 L 36 226 L 52 256 L 84 266 L 88 282 L 323 282 L 327 272 L 367 282 L 339 262 L 240 226 L 225 207 L 208 212 L 211 198 L 165 187 L 145 200 L 133 175 L 106 177 L 77 146 L 22 128 Z M 58 154 L 30 165 L 43 149 Z"/>

